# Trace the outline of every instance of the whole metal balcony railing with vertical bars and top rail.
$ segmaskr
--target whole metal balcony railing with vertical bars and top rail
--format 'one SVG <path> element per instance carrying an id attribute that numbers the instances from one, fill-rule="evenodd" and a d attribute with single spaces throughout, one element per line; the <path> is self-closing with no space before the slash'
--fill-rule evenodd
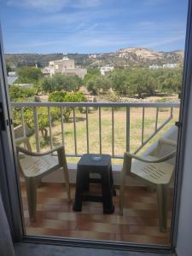
<path id="1" fill-rule="evenodd" d="M 125 108 L 125 151 L 130 151 L 130 142 L 131 142 L 131 108 L 142 108 L 142 128 L 141 128 L 141 143 L 134 151 L 137 153 L 141 150 L 146 143 L 148 143 L 167 123 L 169 123 L 172 119 L 173 108 L 179 108 L 179 103 L 172 102 L 162 102 L 162 103 L 151 103 L 151 102 L 12 102 L 12 108 L 20 109 L 21 116 L 21 125 L 23 129 L 23 136 L 26 136 L 26 125 L 25 125 L 25 116 L 24 109 L 32 108 L 33 109 L 33 117 L 34 117 L 34 135 L 36 141 L 37 152 L 40 152 L 40 140 L 39 140 L 39 126 L 38 126 L 38 108 L 44 107 L 48 110 L 48 119 L 49 119 L 49 137 L 50 137 L 50 148 L 53 148 L 53 134 L 52 134 L 52 120 L 51 120 L 51 108 L 59 108 L 60 116 L 61 116 L 61 139 L 62 143 L 65 143 L 65 127 L 63 122 L 63 109 L 71 108 L 73 109 L 73 144 L 74 144 L 74 153 L 67 154 L 70 156 L 81 156 L 82 154 L 78 152 L 77 148 L 77 131 L 76 131 L 76 109 L 84 108 L 85 113 L 85 130 L 86 130 L 86 153 L 90 152 L 90 130 L 89 130 L 89 116 L 90 108 L 98 108 L 98 131 L 99 131 L 99 153 L 102 154 L 102 108 L 110 108 L 111 109 L 111 131 L 112 131 L 112 148 L 111 154 L 113 158 L 122 158 L 122 155 L 116 155 L 114 152 L 115 142 L 114 142 L 114 110 L 115 108 Z M 151 132 L 150 136 L 144 138 L 145 131 L 145 116 L 148 108 L 154 108 L 156 111 L 155 119 L 154 119 L 154 131 Z M 164 122 L 158 127 L 159 121 L 159 112 L 161 108 L 167 108 L 169 111 L 168 117 L 164 120 Z"/>

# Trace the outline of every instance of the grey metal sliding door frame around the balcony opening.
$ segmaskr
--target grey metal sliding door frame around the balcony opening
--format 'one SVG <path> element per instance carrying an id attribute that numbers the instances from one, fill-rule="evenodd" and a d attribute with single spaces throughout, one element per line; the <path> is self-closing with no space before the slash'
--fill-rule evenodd
<path id="1" fill-rule="evenodd" d="M 177 242 L 177 224 L 179 201 L 182 187 L 183 176 L 183 148 L 186 141 L 186 127 L 188 123 L 188 106 L 189 93 L 192 82 L 192 0 L 189 0 L 188 23 L 186 32 L 186 44 L 183 67 L 183 96 L 181 102 L 180 116 L 178 120 L 178 143 L 177 143 L 177 164 L 175 174 L 175 191 L 172 211 L 172 231 L 171 231 L 171 246 L 153 246 L 143 244 L 131 244 L 125 242 L 115 241 L 83 241 L 69 238 L 54 238 L 49 236 L 26 236 L 24 230 L 24 221 L 22 217 L 22 207 L 20 200 L 19 177 L 16 173 L 17 161 L 15 157 L 13 125 L 10 116 L 10 102 L 7 92 L 7 79 L 5 71 L 5 62 L 3 57 L 3 38 L 0 35 L 0 102 L 3 102 L 4 121 L 6 124 L 6 131 L 0 131 L 0 150 L 3 153 L 3 171 L 0 172 L 0 179 L 4 184 L 1 188 L 3 193 L 3 201 L 9 219 L 11 234 L 14 241 L 33 241 L 46 242 L 63 245 L 85 246 L 85 247 L 108 247 L 117 249 L 132 249 L 142 250 L 147 252 L 174 252 Z M 185 113 L 185 114 L 184 114 Z M 0 183 L 1 185 L 1 183 Z"/>

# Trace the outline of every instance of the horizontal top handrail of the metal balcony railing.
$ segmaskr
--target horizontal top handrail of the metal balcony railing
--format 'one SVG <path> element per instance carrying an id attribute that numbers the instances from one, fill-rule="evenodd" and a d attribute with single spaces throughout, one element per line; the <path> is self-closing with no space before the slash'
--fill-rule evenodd
<path id="1" fill-rule="evenodd" d="M 79 108 L 79 107 L 103 107 L 103 108 L 179 108 L 178 102 L 11 102 L 12 107 L 56 107 L 56 108 Z"/>

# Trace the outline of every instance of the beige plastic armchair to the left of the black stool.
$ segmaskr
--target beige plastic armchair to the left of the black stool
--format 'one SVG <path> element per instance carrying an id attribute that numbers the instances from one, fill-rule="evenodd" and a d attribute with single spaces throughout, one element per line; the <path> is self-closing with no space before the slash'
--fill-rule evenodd
<path id="1" fill-rule="evenodd" d="M 55 172 L 58 168 L 63 168 L 65 183 L 67 187 L 67 199 L 71 202 L 70 184 L 67 169 L 67 160 L 64 146 L 49 150 L 44 153 L 33 153 L 27 137 L 20 137 L 15 140 L 18 154 L 20 171 L 26 180 L 26 195 L 29 209 L 29 218 L 31 221 L 36 219 L 37 210 L 37 189 L 41 178 Z M 25 148 L 20 148 L 19 144 L 23 143 Z M 57 152 L 57 155 L 53 155 Z"/>

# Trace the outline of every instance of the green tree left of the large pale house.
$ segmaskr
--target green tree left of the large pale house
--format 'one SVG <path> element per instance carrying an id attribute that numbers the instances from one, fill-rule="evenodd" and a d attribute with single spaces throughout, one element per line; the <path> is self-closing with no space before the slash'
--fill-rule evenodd
<path id="1" fill-rule="evenodd" d="M 22 67 L 18 69 L 19 78 L 18 83 L 38 83 L 38 80 L 42 78 L 40 68 L 36 67 Z"/>

